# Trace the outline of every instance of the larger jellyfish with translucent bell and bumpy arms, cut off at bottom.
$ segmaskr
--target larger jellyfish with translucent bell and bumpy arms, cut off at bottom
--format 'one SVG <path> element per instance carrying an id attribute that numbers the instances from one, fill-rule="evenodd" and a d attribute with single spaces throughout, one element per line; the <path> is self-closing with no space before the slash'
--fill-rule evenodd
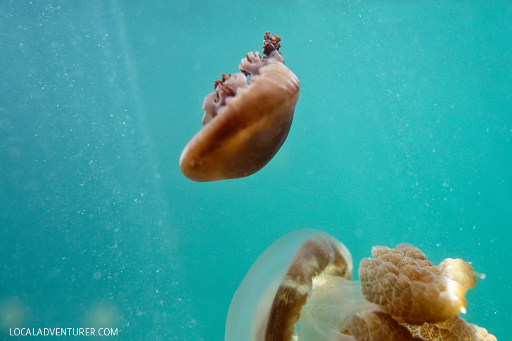
<path id="1" fill-rule="evenodd" d="M 461 259 L 433 265 L 409 244 L 376 246 L 352 281 L 347 247 L 305 229 L 258 257 L 233 295 L 225 341 L 495 341 L 464 321 L 478 274 Z"/>

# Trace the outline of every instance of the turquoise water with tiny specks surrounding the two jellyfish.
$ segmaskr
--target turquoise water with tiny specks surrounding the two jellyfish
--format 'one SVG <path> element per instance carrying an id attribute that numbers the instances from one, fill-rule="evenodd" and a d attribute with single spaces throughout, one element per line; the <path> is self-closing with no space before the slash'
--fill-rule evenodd
<path id="1" fill-rule="evenodd" d="M 355 262 L 412 243 L 487 278 L 465 319 L 511 335 L 510 1 L 4 1 L 0 319 L 222 340 L 256 257 L 301 228 Z M 196 184 L 204 96 L 264 31 L 301 82 L 262 171 Z M 101 340 L 101 337 L 96 337 Z"/>

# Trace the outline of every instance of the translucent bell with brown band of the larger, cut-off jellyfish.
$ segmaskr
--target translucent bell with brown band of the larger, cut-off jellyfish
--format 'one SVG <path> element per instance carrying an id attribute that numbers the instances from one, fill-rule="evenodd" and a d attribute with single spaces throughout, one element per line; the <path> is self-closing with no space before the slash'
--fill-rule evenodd
<path id="1" fill-rule="evenodd" d="M 342 340 L 338 321 L 371 305 L 351 278 L 352 256 L 343 243 L 314 229 L 288 233 L 243 278 L 231 300 L 224 340 Z M 345 302 L 357 309 L 338 309 L 333 317 L 333 305 Z"/>

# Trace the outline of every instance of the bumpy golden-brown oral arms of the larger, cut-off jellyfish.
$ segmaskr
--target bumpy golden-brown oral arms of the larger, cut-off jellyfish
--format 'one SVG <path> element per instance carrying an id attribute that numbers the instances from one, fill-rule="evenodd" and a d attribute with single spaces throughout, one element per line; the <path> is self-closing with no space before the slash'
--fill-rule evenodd
<path id="1" fill-rule="evenodd" d="M 359 263 L 361 293 L 412 336 L 425 341 L 496 340 L 459 316 L 466 313 L 466 292 L 476 285 L 471 264 L 447 258 L 436 266 L 409 244 L 375 246 L 371 255 Z"/>

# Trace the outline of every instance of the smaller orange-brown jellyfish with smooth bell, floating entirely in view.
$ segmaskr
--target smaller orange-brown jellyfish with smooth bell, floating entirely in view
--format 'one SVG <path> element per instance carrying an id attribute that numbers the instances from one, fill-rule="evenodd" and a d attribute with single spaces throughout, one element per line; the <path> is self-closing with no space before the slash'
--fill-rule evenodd
<path id="1" fill-rule="evenodd" d="M 299 98 L 299 80 L 284 65 L 281 38 L 266 32 L 263 57 L 247 53 L 241 72 L 222 75 L 203 103 L 203 128 L 185 146 L 181 172 L 193 181 L 249 176 L 283 145 Z M 248 76 L 248 78 L 247 78 Z"/>

